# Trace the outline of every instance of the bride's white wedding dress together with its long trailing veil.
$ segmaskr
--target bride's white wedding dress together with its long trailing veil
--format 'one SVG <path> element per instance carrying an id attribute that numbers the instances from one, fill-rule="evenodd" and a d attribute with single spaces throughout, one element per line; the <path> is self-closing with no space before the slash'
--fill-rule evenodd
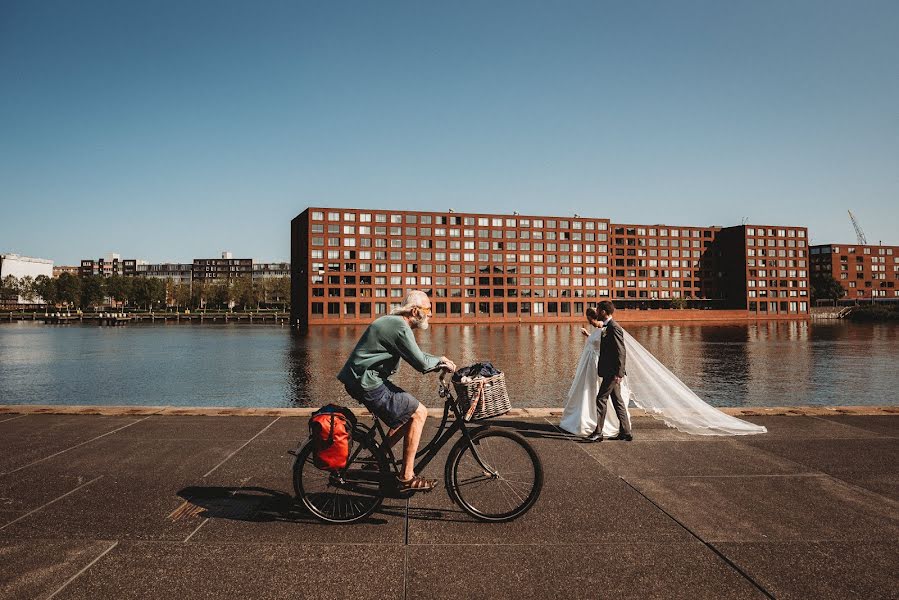
<path id="1" fill-rule="evenodd" d="M 596 366 L 601 339 L 601 329 L 587 338 L 559 423 L 565 431 L 579 436 L 590 435 L 596 430 L 596 394 L 599 392 Z M 663 420 L 669 427 L 694 435 L 751 435 L 767 431 L 761 425 L 732 417 L 703 402 L 626 331 L 624 347 L 627 376 L 621 382 L 621 395 L 628 404 L 633 400 L 638 408 Z M 609 406 L 602 433 L 606 437 L 614 436 L 618 427 L 618 417 Z"/>

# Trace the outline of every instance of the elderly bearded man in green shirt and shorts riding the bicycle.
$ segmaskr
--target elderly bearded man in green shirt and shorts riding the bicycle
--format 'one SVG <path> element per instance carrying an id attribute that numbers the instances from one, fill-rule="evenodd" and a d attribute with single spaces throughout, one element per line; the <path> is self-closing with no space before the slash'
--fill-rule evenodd
<path id="1" fill-rule="evenodd" d="M 399 370 L 400 359 L 420 373 L 442 368 L 455 371 L 456 365 L 445 356 L 422 352 L 415 341 L 414 329 L 427 329 L 431 300 L 422 291 L 413 291 L 402 304 L 374 321 L 359 338 L 337 379 L 347 393 L 365 405 L 390 428 L 386 444 L 392 447 L 403 438 L 403 473 L 398 477 L 400 491 L 428 491 L 435 480 L 415 475 L 415 453 L 421 440 L 428 411 L 412 394 L 388 378 Z"/>

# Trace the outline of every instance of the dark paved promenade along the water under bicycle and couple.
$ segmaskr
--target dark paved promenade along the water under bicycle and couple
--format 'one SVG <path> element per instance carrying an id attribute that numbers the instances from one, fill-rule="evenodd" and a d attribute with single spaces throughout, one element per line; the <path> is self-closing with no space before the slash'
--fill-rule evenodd
<path id="1" fill-rule="evenodd" d="M 0 406 L 0 598 L 899 597 L 896 408 L 761 410 L 742 438 L 644 416 L 599 444 L 557 412 L 495 423 L 546 471 L 521 519 L 441 486 L 332 526 L 292 499 L 302 411 Z"/>

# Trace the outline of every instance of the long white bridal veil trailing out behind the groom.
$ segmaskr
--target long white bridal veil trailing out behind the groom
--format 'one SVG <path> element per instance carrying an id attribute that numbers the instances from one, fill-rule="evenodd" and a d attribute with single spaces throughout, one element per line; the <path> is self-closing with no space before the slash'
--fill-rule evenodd
<path id="1" fill-rule="evenodd" d="M 624 332 L 627 379 L 638 408 L 694 435 L 751 435 L 767 429 L 727 415 L 697 396 L 640 342 Z"/>

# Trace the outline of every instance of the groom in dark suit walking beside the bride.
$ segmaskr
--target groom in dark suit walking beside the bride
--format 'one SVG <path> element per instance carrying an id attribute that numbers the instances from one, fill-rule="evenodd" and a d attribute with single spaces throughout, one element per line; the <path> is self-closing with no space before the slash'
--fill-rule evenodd
<path id="1" fill-rule="evenodd" d="M 602 341 L 599 343 L 599 365 L 597 375 L 602 379 L 599 384 L 599 393 L 596 394 L 596 431 L 587 437 L 588 442 L 602 441 L 602 425 L 606 420 L 606 409 L 609 398 L 615 414 L 621 422 L 618 435 L 613 440 L 626 442 L 634 439 L 631 434 L 631 421 L 627 415 L 627 398 L 621 397 L 621 380 L 626 375 L 625 365 L 627 353 L 624 349 L 624 330 L 612 319 L 615 305 L 608 300 L 603 300 L 596 307 L 599 321 L 602 322 L 605 331 L 602 333 Z"/>

